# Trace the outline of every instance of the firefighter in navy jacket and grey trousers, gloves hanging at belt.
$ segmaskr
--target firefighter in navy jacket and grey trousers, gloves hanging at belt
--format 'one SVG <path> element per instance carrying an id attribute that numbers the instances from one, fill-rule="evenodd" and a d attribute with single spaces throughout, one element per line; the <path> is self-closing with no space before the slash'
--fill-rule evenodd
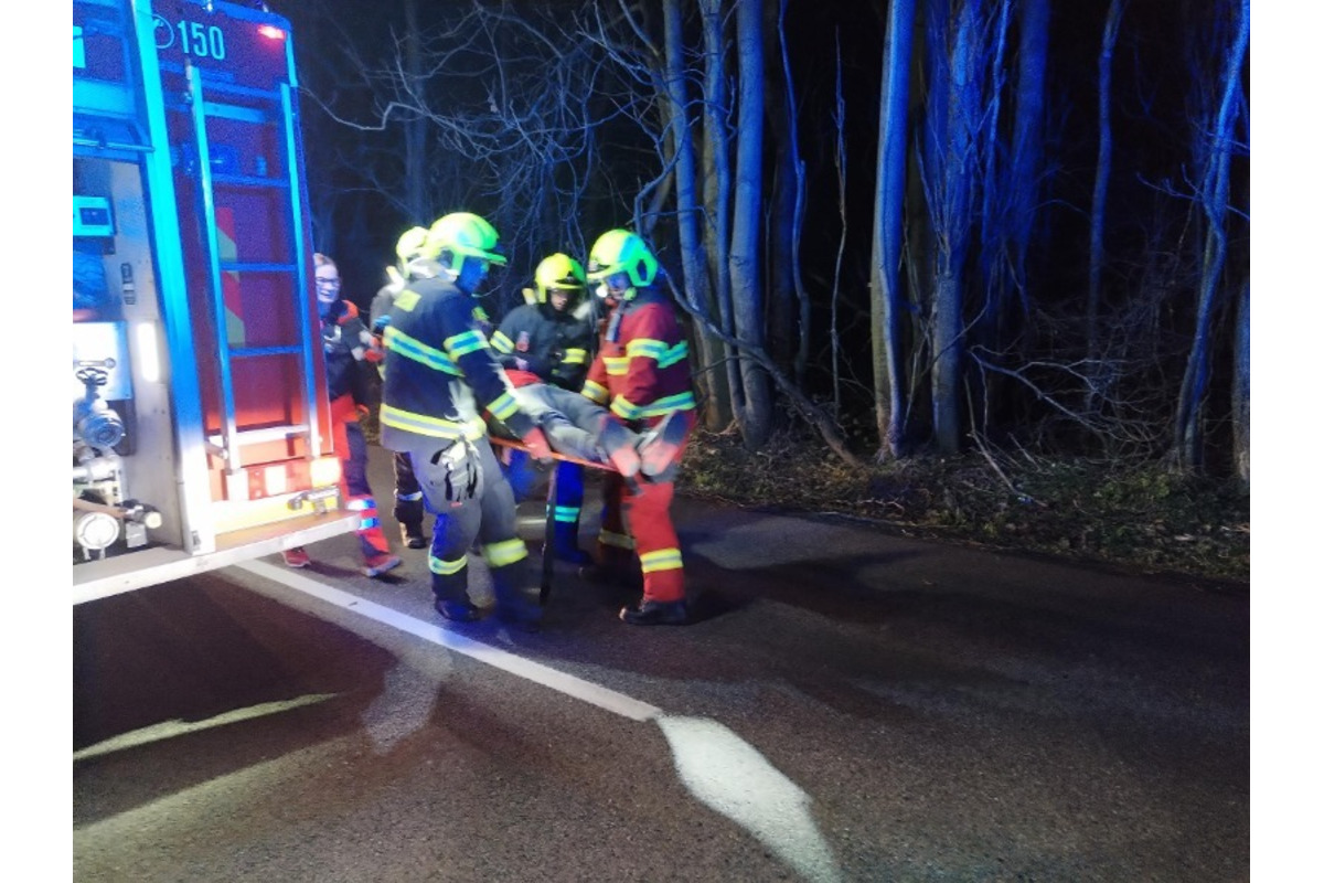
<path id="1" fill-rule="evenodd" d="M 455 622 L 483 614 L 467 592 L 467 553 L 477 539 L 496 617 L 531 631 L 542 620 L 538 588 L 528 579 L 515 496 L 496 465 L 483 412 L 535 458 L 549 459 L 551 449 L 516 405 L 474 312 L 489 267 L 506 263 L 498 238 L 491 224 L 469 212 L 445 214 L 428 229 L 383 332 L 381 443 L 408 454 L 425 504 L 437 515 L 428 553 L 437 612 Z"/>

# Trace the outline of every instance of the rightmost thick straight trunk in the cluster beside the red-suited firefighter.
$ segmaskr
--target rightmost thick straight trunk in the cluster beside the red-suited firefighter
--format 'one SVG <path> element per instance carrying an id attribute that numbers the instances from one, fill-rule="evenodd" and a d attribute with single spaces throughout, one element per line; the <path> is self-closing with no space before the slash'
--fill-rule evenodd
<path id="1" fill-rule="evenodd" d="M 736 338 L 763 347 L 763 279 L 759 273 L 759 242 L 763 229 L 763 11 L 745 0 L 736 8 L 739 58 L 739 128 L 736 181 L 731 230 L 732 318 Z M 757 361 L 741 353 L 739 409 L 745 447 L 760 449 L 772 428 L 772 393 Z"/>

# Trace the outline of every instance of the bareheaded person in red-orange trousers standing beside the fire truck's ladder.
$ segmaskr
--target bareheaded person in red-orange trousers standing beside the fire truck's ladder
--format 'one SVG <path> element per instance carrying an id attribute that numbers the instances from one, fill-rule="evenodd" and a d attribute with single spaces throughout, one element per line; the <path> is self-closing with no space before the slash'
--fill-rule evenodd
<path id="1" fill-rule="evenodd" d="M 340 271 L 335 261 L 314 254 L 318 312 L 322 316 L 322 352 L 326 357 L 327 392 L 331 397 L 331 430 L 340 451 L 340 495 L 346 507 L 359 514 L 359 549 L 363 552 L 363 575 L 381 576 L 400 565 L 381 532 L 377 503 L 368 486 L 368 443 L 359 426 L 359 417 L 368 413 L 364 363 L 373 351 L 372 334 L 359 318 L 359 308 L 340 299 Z M 303 547 L 282 552 L 289 567 L 308 567 L 311 560 Z"/>

